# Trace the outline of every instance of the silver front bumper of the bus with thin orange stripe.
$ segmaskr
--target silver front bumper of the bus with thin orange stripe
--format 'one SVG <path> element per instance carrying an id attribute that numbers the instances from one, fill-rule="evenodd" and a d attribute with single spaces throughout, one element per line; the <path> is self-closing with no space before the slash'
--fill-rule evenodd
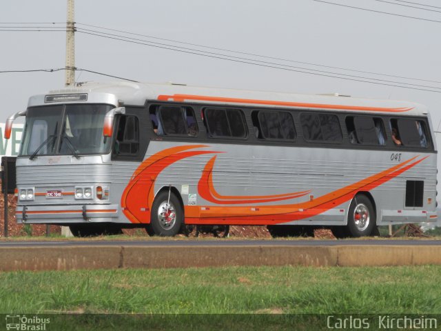
<path id="1" fill-rule="evenodd" d="M 116 222 L 119 205 L 17 205 L 17 223 Z"/>

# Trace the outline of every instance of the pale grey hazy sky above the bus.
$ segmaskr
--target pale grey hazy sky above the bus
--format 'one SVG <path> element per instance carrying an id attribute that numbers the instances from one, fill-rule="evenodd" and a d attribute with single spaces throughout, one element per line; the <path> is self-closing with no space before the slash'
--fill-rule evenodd
<path id="1" fill-rule="evenodd" d="M 2 0 L 0 122 L 24 110 L 32 94 L 63 88 L 65 81 L 63 71 L 1 73 L 64 68 L 65 32 L 5 30 L 15 26 L 63 30 L 60 24 L 40 23 L 65 22 L 66 7 L 67 0 Z M 428 106 L 433 127 L 441 128 L 437 0 L 76 0 L 75 21 L 76 68 L 154 83 L 415 101 Z M 101 37 L 90 34 L 94 31 Z M 104 35 L 130 37 L 136 43 Z M 147 42 L 163 48 L 139 44 Z M 187 49 L 164 49 L 171 46 Z M 186 53 L 201 50 L 216 54 Z M 226 55 L 236 61 L 214 58 Z M 311 70 L 320 71 L 305 73 Z M 76 81 L 108 80 L 114 79 L 76 72 Z"/>

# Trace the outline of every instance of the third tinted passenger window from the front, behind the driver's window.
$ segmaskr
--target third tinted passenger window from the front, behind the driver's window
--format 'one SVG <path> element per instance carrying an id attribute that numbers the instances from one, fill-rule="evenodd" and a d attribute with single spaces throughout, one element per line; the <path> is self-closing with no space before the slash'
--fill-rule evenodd
<path id="1" fill-rule="evenodd" d="M 294 119 L 289 112 L 260 111 L 258 124 L 265 139 L 296 139 Z"/>

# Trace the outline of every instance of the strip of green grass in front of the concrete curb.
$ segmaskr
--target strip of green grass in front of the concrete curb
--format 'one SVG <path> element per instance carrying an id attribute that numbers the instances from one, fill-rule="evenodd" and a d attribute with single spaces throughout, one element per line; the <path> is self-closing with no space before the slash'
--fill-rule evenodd
<path id="1" fill-rule="evenodd" d="M 440 274 L 441 266 L 0 272 L 0 314 L 52 314 L 48 330 L 324 330 L 327 315 L 316 314 L 438 314 Z"/>

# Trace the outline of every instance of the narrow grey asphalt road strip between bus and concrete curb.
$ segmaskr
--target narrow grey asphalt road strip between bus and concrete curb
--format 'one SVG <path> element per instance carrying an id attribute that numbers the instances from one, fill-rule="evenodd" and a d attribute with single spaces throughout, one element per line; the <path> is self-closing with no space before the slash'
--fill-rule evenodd
<path id="1" fill-rule="evenodd" d="M 72 247 L 72 246 L 336 246 L 336 245 L 441 245 L 441 240 L 407 239 L 407 240 L 75 240 L 75 241 L 0 241 L 2 247 Z"/>

